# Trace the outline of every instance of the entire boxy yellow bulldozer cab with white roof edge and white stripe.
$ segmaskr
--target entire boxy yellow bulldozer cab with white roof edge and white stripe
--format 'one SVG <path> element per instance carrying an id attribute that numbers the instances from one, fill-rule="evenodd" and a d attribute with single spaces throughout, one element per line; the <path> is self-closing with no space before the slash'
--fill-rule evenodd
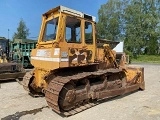
<path id="1" fill-rule="evenodd" d="M 59 6 L 43 14 L 42 19 L 37 48 L 31 54 L 35 67 L 51 70 L 94 62 L 95 17 Z"/>

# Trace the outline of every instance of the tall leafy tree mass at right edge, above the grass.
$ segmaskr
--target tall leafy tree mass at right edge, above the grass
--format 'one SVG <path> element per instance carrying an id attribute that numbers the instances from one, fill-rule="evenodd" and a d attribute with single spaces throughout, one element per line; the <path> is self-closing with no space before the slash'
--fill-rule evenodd
<path id="1" fill-rule="evenodd" d="M 125 10 L 125 47 L 136 54 L 145 48 L 146 54 L 157 54 L 160 35 L 159 0 L 131 0 Z"/>

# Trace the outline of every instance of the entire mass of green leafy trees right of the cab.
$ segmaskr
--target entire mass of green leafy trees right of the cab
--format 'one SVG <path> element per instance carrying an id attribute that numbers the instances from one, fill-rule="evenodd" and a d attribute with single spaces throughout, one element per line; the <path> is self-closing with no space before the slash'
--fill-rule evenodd
<path id="1" fill-rule="evenodd" d="M 158 54 L 160 0 L 108 0 L 98 16 L 98 37 L 123 39 L 132 54 Z"/>

